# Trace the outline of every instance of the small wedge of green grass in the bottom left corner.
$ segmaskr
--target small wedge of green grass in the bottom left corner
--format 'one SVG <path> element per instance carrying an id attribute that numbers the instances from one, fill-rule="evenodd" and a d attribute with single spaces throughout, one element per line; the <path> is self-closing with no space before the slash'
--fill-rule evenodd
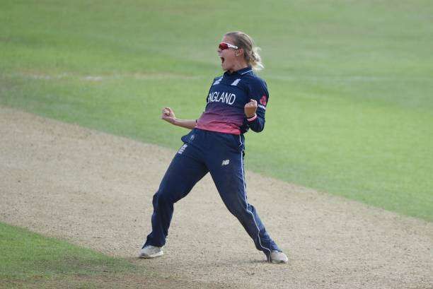
<path id="1" fill-rule="evenodd" d="M 124 259 L 0 223 L 0 288 L 62 282 L 94 288 L 98 279 L 134 271 L 136 266 Z"/>

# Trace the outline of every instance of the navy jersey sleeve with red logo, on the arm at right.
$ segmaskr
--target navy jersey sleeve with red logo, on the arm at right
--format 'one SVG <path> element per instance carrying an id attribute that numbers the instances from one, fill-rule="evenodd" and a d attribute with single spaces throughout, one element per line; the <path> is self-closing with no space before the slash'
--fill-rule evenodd
<path id="1" fill-rule="evenodd" d="M 243 123 L 255 132 L 260 132 L 265 128 L 265 112 L 267 101 L 269 100 L 269 92 L 265 81 L 259 79 L 250 85 L 248 97 L 257 101 L 257 111 L 255 116 L 248 119 L 245 117 Z M 248 100 L 249 101 L 249 100 Z"/>

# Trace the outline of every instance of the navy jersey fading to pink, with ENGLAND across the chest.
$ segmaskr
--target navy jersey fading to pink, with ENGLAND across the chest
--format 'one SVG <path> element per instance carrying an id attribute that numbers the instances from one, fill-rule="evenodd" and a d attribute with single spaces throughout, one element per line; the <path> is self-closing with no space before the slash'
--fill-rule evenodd
<path id="1" fill-rule="evenodd" d="M 255 117 L 246 118 L 243 107 L 256 100 Z M 245 69 L 214 78 L 207 95 L 207 105 L 197 119 L 197 129 L 226 134 L 243 134 L 248 129 L 259 132 L 265 127 L 265 111 L 269 93 L 262 78 L 248 66 Z"/>

